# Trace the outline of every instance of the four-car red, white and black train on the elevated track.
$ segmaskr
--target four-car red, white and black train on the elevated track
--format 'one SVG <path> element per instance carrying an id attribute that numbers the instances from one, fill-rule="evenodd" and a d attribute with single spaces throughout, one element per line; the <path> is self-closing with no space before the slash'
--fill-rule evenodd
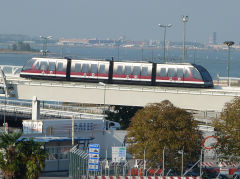
<path id="1" fill-rule="evenodd" d="M 200 65 L 190 63 L 158 64 L 41 57 L 28 60 L 20 76 L 41 80 L 109 84 L 213 87 L 208 71 Z"/>

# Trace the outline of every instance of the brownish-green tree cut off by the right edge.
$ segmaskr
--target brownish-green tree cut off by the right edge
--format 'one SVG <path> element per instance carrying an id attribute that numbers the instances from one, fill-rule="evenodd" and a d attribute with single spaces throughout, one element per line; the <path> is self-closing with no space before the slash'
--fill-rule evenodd
<path id="1" fill-rule="evenodd" d="M 219 146 L 216 149 L 220 160 L 240 159 L 240 98 L 226 103 L 221 115 L 213 123 Z"/>

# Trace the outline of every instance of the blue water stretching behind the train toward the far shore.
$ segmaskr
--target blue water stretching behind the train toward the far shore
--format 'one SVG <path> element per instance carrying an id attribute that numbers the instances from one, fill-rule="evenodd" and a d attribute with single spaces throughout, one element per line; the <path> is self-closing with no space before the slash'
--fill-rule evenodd
<path id="1" fill-rule="evenodd" d="M 87 47 L 48 47 L 48 50 L 57 56 L 75 58 L 110 59 L 119 60 L 155 61 L 162 62 L 162 49 L 136 49 L 136 48 L 87 48 Z M 217 74 L 227 76 L 227 50 L 188 50 L 186 62 L 204 66 L 216 79 Z M 36 56 L 35 54 L 0 54 L 0 65 L 23 66 L 24 63 Z M 160 58 L 161 57 L 161 58 Z M 232 50 L 230 59 L 230 76 L 240 78 L 240 51 Z M 180 62 L 182 50 L 168 50 L 168 61 Z M 161 60 L 160 60 L 161 59 Z"/>

